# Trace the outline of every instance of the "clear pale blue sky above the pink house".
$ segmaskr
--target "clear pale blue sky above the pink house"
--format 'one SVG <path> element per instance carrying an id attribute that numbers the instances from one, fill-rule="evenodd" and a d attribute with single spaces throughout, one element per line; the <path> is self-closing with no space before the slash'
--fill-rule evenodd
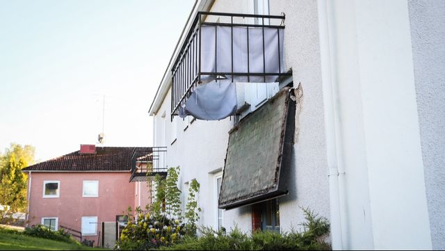
<path id="1" fill-rule="evenodd" d="M 0 0 L 0 151 L 152 145 L 147 111 L 194 0 Z"/>

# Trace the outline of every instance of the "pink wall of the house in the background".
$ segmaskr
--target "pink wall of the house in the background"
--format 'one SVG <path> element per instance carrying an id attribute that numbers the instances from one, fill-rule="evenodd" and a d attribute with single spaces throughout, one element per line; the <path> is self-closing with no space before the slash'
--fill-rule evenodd
<path id="1" fill-rule="evenodd" d="M 40 224 L 42 217 L 58 217 L 58 225 L 80 230 L 82 216 L 114 222 L 129 206 L 135 206 L 136 182 L 129 183 L 129 172 L 32 172 L 31 176 L 29 226 Z M 60 181 L 60 197 L 43 198 L 45 180 Z M 83 180 L 99 181 L 99 197 L 82 197 Z M 99 232 L 100 225 L 97 229 Z M 97 237 L 88 239 L 97 243 Z"/>

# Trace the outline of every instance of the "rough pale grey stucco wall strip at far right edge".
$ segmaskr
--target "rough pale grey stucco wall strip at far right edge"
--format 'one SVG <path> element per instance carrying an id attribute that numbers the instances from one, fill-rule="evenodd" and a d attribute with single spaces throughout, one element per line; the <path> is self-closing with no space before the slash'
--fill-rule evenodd
<path id="1" fill-rule="evenodd" d="M 409 1 L 432 247 L 445 248 L 445 1 Z"/>

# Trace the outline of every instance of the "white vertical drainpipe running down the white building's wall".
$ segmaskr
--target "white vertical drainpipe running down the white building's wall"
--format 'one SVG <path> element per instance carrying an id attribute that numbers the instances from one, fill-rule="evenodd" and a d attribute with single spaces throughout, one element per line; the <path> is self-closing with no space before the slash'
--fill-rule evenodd
<path id="1" fill-rule="evenodd" d="M 327 165 L 329 167 L 330 191 L 330 224 L 332 236 L 332 249 L 346 248 L 346 231 L 344 220 L 346 211 L 344 207 L 344 175 L 341 166 L 341 146 L 337 147 L 339 140 L 336 133 L 336 115 L 338 109 L 334 102 L 334 91 L 337 87 L 336 70 L 334 62 L 334 39 L 332 6 L 327 6 L 327 0 L 318 0 L 318 31 L 320 35 L 321 79 L 323 86 L 323 104 L 325 111 L 325 133 L 327 149 Z M 338 128 L 337 128 L 338 130 Z M 337 159 L 339 157 L 340 161 Z M 340 163 L 340 164 L 339 164 Z"/>

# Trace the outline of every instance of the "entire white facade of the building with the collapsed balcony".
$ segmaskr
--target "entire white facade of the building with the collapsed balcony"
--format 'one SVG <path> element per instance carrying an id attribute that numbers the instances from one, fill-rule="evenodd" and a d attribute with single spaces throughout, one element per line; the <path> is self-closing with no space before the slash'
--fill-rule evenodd
<path id="1" fill-rule="evenodd" d="M 285 196 L 218 209 L 240 118 L 171 117 L 171 70 L 197 11 L 285 15 L 291 78 L 280 86 L 300 94 Z M 181 191 L 192 179 L 201 185 L 200 224 L 250 232 L 261 204 L 285 232 L 309 207 L 330 220 L 334 249 L 444 249 L 444 13 L 440 0 L 197 1 L 149 113 L 153 145 L 167 147 L 165 165 L 181 168 Z"/>

